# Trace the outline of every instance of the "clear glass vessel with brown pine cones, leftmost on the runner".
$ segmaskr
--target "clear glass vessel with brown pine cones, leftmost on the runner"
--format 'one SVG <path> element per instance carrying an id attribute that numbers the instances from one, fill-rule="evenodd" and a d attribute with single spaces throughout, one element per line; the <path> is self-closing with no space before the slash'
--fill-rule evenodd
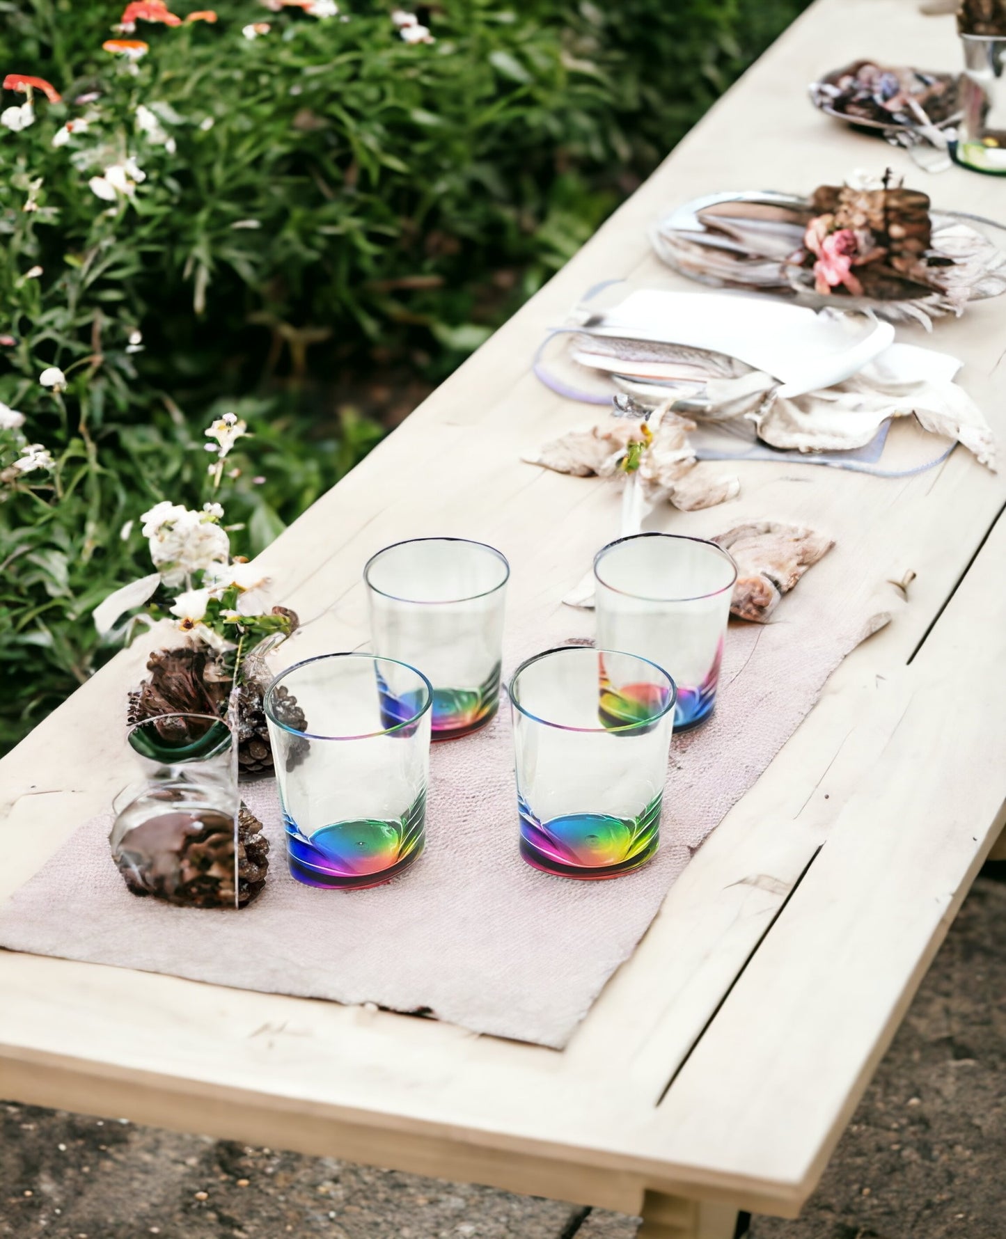
<path id="1" fill-rule="evenodd" d="M 248 903 L 268 861 L 263 854 L 239 881 L 237 745 L 227 721 L 165 714 L 129 727 L 126 743 L 140 777 L 113 803 L 109 844 L 129 890 L 182 907 Z"/>

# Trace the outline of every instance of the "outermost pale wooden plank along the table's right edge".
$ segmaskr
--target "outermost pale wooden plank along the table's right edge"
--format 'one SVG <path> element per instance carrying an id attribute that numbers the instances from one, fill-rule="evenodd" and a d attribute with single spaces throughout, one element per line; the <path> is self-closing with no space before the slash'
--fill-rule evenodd
<path id="1" fill-rule="evenodd" d="M 1002 828 L 1004 566 L 1006 520 L 906 669 L 870 777 L 659 1106 L 669 1161 L 794 1202 L 816 1183 Z"/>

